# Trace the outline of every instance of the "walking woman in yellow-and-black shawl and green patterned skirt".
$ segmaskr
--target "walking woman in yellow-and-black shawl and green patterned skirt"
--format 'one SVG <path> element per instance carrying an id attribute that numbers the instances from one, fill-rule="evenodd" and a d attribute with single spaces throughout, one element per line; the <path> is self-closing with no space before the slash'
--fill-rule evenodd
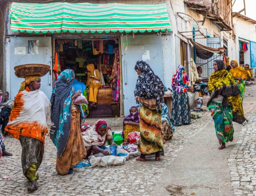
<path id="1" fill-rule="evenodd" d="M 231 73 L 226 70 L 222 60 L 213 62 L 214 72 L 208 83 L 209 99 L 207 106 L 215 123 L 216 136 L 219 140 L 219 149 L 226 147 L 225 143 L 233 141 L 233 123 L 245 125 L 247 120 L 242 109 L 240 91 Z"/>

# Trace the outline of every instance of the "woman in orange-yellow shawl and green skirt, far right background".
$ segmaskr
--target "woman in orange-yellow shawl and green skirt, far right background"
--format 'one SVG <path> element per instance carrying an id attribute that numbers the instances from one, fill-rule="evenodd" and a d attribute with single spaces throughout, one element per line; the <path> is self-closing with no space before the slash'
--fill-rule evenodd
<path id="1" fill-rule="evenodd" d="M 247 79 L 247 71 L 243 70 L 242 67 L 238 66 L 238 62 L 236 60 L 232 60 L 230 62 L 232 69 L 230 69 L 230 73 L 238 83 L 238 88 L 240 90 L 241 100 L 245 97 L 245 80 Z"/>

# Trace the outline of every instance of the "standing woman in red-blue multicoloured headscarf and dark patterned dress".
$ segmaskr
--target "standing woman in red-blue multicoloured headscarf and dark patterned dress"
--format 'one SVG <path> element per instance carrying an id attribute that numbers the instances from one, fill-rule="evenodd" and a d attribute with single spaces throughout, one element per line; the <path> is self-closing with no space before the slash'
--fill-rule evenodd
<path id="1" fill-rule="evenodd" d="M 182 65 L 172 77 L 172 122 L 174 126 L 190 125 L 190 109 L 187 94 L 188 76 Z M 169 89 L 171 90 L 171 89 Z"/>

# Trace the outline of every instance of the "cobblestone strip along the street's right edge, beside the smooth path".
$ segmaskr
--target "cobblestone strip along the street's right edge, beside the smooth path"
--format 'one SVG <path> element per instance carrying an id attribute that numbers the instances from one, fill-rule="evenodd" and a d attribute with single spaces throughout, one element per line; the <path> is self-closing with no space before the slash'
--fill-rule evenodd
<path id="1" fill-rule="evenodd" d="M 245 95 L 255 97 L 255 89 L 256 85 L 248 87 Z M 256 196 L 256 102 L 248 105 L 251 107 L 251 112 L 246 114 L 249 122 L 242 127 L 228 161 L 235 195 Z"/>

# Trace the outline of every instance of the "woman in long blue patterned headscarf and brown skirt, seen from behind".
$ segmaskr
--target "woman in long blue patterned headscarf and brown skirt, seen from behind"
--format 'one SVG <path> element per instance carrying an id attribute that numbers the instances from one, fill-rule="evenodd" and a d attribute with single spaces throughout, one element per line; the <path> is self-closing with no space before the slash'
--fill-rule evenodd
<path id="1" fill-rule="evenodd" d="M 81 132 L 80 109 L 74 104 L 81 91 L 71 86 L 75 79 L 72 69 L 62 71 L 52 91 L 51 119 L 54 123 L 50 138 L 57 147 L 56 170 L 59 174 L 71 174 L 72 167 L 86 157 Z"/>

